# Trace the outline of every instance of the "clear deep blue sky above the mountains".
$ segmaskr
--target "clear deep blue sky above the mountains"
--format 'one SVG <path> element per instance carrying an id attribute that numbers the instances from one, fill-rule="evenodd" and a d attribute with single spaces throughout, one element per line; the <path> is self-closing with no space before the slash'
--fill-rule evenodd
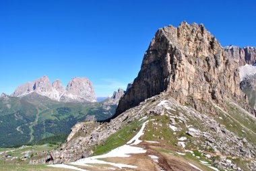
<path id="1" fill-rule="evenodd" d="M 190 2 L 190 3 L 189 3 Z M 222 46 L 256 46 L 256 1 L 0 0 L 0 92 L 48 75 L 126 88 L 158 28 L 203 23 Z"/>

